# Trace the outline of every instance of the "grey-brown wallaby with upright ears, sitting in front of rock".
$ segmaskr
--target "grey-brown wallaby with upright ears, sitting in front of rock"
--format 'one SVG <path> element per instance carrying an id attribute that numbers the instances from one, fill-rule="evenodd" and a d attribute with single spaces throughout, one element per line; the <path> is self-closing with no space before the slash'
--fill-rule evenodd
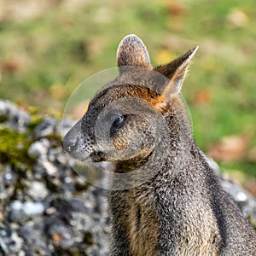
<path id="1" fill-rule="evenodd" d="M 111 255 L 256 255 L 255 230 L 193 139 L 180 90 L 196 50 L 151 67 L 143 42 L 126 36 L 118 77 L 63 139 L 74 159 L 112 162 L 119 175 Z"/>

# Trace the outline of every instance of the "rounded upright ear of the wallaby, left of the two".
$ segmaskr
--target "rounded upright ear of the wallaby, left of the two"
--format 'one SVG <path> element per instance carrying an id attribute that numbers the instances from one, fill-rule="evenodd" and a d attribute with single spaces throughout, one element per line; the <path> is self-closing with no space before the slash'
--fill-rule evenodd
<path id="1" fill-rule="evenodd" d="M 119 67 L 150 67 L 148 50 L 143 41 L 136 35 L 123 38 L 117 50 L 117 64 Z"/>

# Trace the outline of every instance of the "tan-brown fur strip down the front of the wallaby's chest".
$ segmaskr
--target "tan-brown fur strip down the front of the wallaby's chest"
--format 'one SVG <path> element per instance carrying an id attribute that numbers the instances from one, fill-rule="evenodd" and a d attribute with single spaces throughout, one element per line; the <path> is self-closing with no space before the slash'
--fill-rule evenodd
<path id="1" fill-rule="evenodd" d="M 117 192 L 119 199 L 119 224 L 125 230 L 131 255 L 155 255 L 158 250 L 160 222 L 150 189 L 129 189 Z"/>

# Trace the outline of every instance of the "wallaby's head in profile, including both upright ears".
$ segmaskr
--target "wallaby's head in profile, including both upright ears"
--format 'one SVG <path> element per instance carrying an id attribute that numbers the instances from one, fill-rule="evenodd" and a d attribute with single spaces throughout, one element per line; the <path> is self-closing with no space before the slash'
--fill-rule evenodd
<path id="1" fill-rule="evenodd" d="M 67 153 L 82 161 L 123 164 L 116 172 L 130 172 L 159 145 L 167 152 L 170 142 L 179 147 L 182 137 L 192 141 L 179 92 L 197 49 L 152 67 L 143 42 L 126 36 L 117 50 L 119 76 L 96 94 L 64 137 Z"/>

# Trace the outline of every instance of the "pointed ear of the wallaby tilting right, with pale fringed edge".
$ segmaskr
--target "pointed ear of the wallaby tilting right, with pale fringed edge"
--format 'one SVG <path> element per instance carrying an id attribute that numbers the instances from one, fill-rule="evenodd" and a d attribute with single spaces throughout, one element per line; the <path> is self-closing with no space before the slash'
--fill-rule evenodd
<path id="1" fill-rule="evenodd" d="M 195 49 L 189 49 L 189 51 L 176 60 L 154 68 L 154 71 L 157 71 L 170 79 L 170 83 L 166 84 L 166 86 L 160 90 L 160 93 L 164 98 L 168 99 L 173 93 L 181 90 L 183 80 L 188 72 L 188 67 L 198 48 L 199 47 L 196 46 Z"/>

